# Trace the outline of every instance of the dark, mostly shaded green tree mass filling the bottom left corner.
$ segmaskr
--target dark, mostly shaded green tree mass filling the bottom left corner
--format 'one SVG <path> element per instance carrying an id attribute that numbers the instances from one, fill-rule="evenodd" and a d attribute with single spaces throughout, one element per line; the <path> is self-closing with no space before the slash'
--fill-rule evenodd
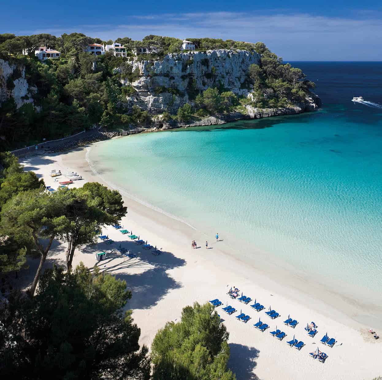
<path id="1" fill-rule="evenodd" d="M 4 378 L 146 380 L 147 348 L 122 308 L 131 298 L 125 281 L 91 273 L 47 269 L 34 298 L 10 300 L 0 314 L 0 370 Z"/>

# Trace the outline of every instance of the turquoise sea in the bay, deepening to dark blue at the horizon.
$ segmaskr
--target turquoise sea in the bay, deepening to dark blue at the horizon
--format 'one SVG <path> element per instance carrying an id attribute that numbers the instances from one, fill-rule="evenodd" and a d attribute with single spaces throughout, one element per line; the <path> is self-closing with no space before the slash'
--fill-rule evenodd
<path id="1" fill-rule="evenodd" d="M 243 262 L 367 314 L 382 304 L 382 63 L 290 63 L 316 83 L 317 112 L 112 139 L 87 158 Z"/>

